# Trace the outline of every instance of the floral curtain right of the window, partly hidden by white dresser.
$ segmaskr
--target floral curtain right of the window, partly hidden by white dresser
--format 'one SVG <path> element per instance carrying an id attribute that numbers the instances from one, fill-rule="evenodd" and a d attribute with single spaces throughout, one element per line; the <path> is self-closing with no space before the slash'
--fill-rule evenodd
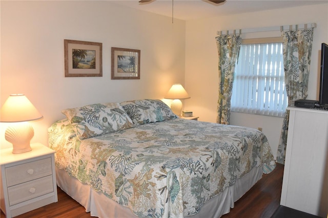
<path id="1" fill-rule="evenodd" d="M 288 96 L 288 106 L 298 99 L 308 96 L 313 28 L 282 32 L 284 82 Z M 277 151 L 277 163 L 284 164 L 288 135 L 289 110 L 283 118 Z"/>

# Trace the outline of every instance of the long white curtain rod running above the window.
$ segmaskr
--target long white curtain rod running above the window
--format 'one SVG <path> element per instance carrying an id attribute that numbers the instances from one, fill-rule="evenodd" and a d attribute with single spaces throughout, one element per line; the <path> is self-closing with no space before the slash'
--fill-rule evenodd
<path id="1" fill-rule="evenodd" d="M 316 23 L 311 24 L 298 24 L 298 25 L 285 25 L 285 26 L 277 26 L 277 27 L 261 27 L 261 28 L 253 28 L 253 29 L 237 29 L 237 30 L 226 30 L 227 34 L 229 32 L 236 33 L 239 31 L 241 33 L 256 33 L 256 32 L 270 32 L 270 31 L 283 31 L 283 30 L 292 30 L 294 29 L 307 29 L 307 28 L 316 28 Z M 222 35 L 222 30 L 216 32 L 217 35 Z"/>

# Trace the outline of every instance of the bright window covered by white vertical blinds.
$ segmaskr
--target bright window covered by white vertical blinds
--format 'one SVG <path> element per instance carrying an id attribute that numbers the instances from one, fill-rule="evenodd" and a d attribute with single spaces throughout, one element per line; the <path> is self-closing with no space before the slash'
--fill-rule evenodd
<path id="1" fill-rule="evenodd" d="M 282 117 L 287 102 L 282 43 L 242 44 L 235 69 L 231 110 Z"/>

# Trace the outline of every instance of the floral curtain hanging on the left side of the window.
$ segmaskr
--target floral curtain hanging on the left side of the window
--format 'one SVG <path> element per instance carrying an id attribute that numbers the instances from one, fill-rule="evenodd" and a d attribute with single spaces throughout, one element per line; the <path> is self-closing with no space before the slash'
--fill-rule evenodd
<path id="1" fill-rule="evenodd" d="M 229 124 L 231 110 L 231 95 L 234 81 L 235 66 L 238 61 L 241 37 L 240 35 L 220 35 L 216 38 L 219 55 L 219 96 L 217 106 L 217 123 Z"/>

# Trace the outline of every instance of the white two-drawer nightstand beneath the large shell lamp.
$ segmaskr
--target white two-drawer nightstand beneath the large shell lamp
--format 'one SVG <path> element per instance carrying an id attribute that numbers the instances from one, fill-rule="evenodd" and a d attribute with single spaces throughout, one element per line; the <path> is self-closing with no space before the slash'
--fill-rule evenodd
<path id="1" fill-rule="evenodd" d="M 55 151 L 40 143 L 31 151 L 12 154 L 12 148 L 0 150 L 1 210 L 6 217 L 57 202 Z"/>

